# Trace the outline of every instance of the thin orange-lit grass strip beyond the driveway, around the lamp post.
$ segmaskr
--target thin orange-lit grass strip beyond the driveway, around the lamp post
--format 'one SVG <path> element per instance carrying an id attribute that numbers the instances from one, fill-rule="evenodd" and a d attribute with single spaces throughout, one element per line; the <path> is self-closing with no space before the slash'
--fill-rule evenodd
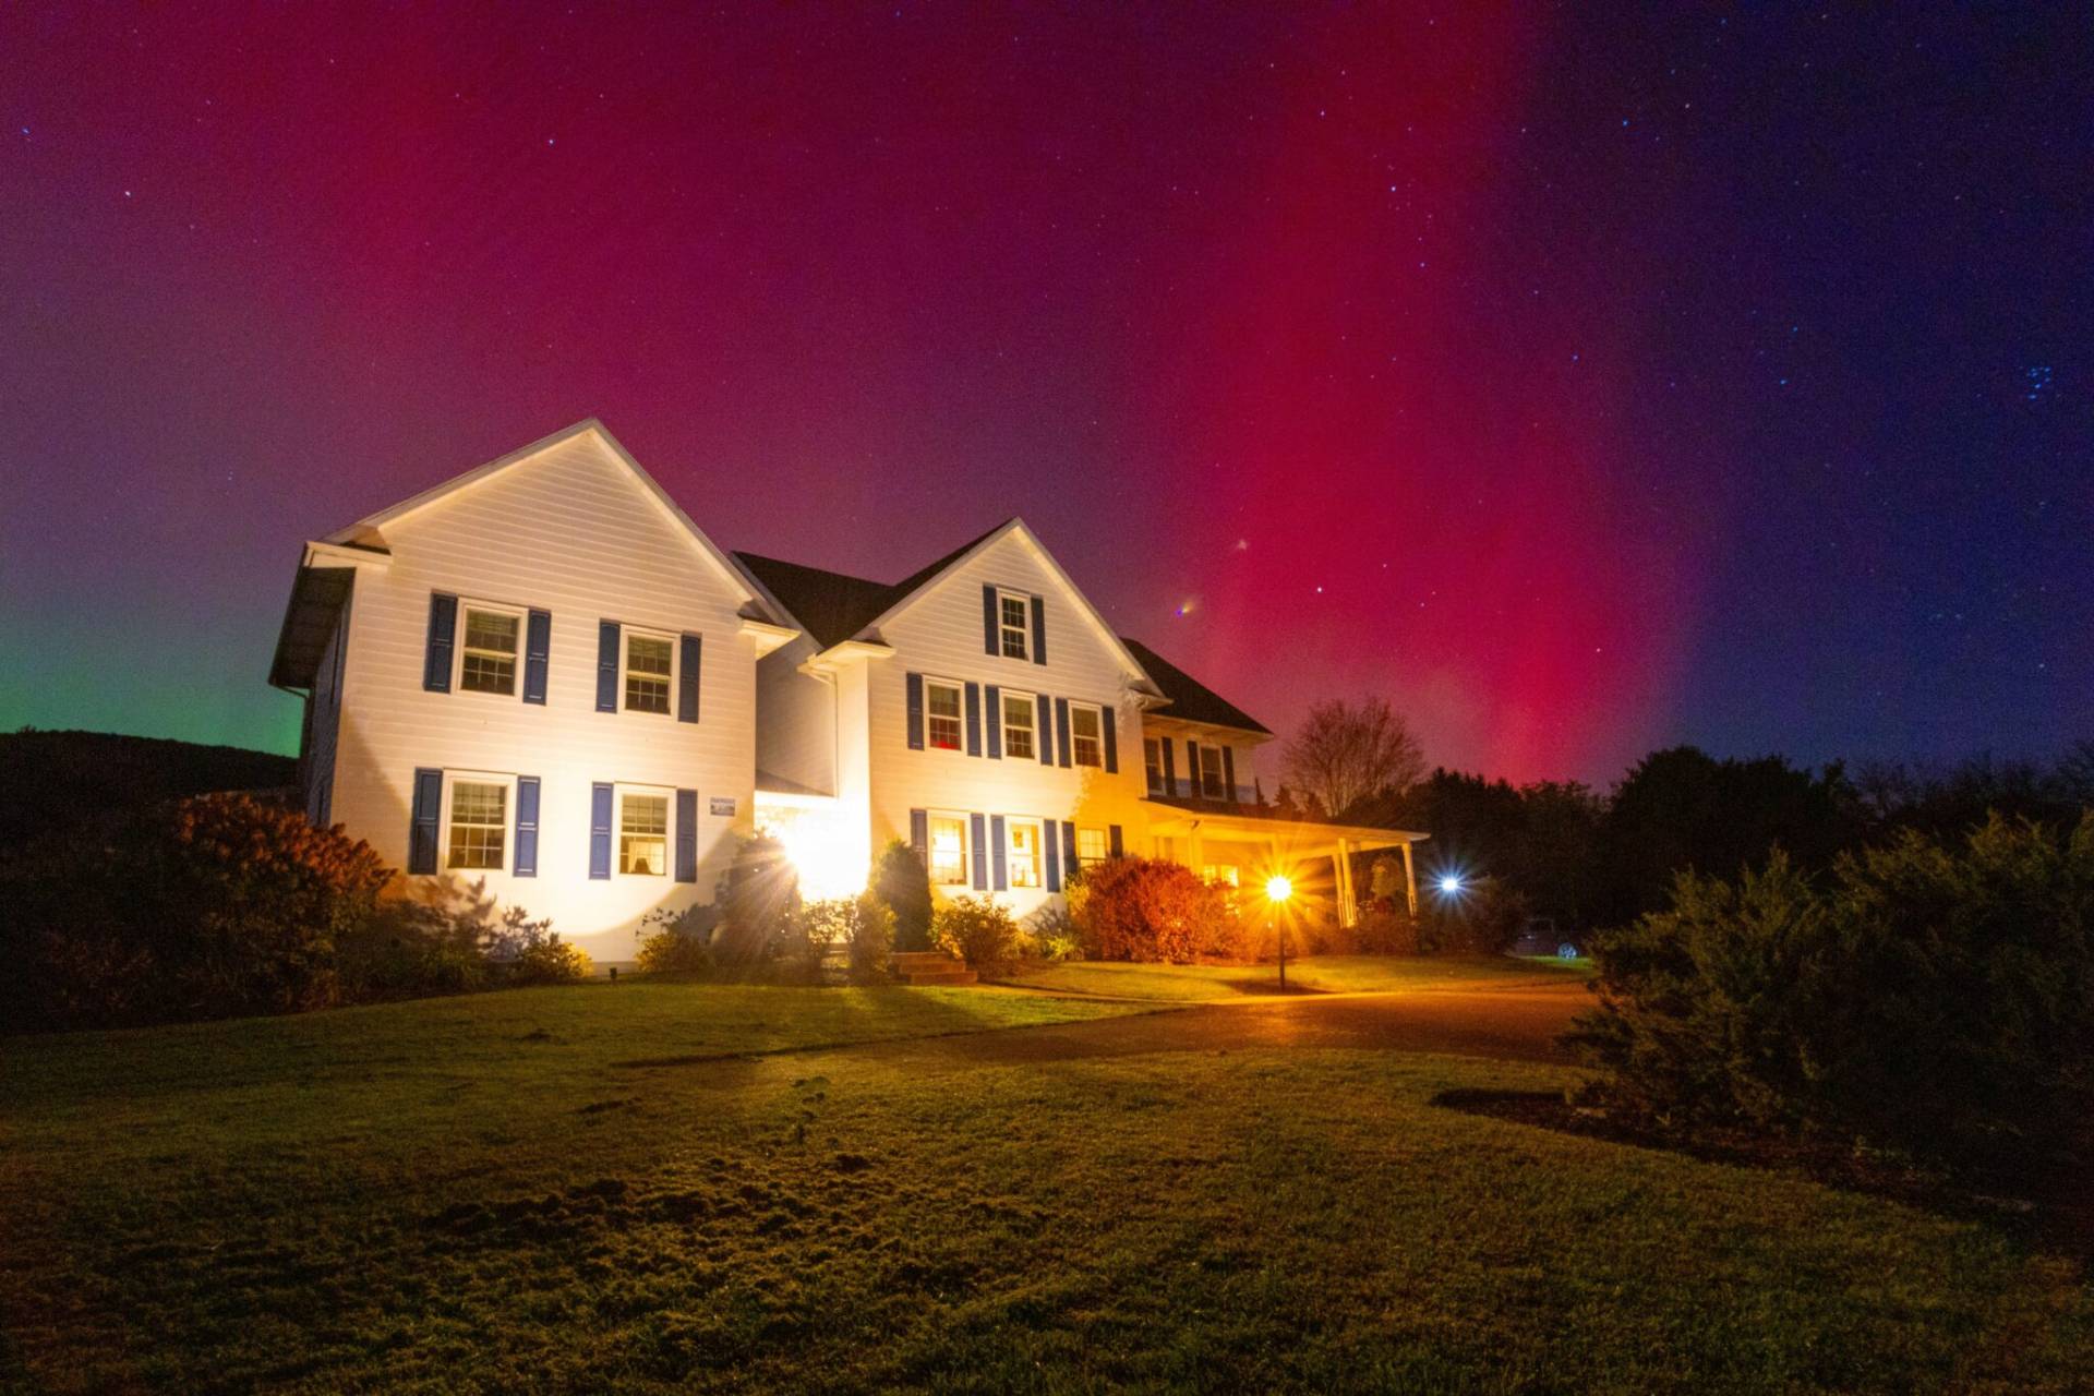
<path id="1" fill-rule="evenodd" d="M 1587 977 L 1591 977 L 1589 961 L 1510 954 L 1445 959 L 1315 954 L 1288 961 L 1288 988 L 1319 990 L 1326 994 L 1514 988 L 1529 984 L 1579 984 Z M 1279 986 L 1279 969 L 1275 965 L 1118 965 L 1104 961 L 1062 961 L 1026 967 L 1009 975 L 1007 982 L 1060 994 L 1208 1003 L 1240 998 L 1244 994 L 1271 994 Z"/>

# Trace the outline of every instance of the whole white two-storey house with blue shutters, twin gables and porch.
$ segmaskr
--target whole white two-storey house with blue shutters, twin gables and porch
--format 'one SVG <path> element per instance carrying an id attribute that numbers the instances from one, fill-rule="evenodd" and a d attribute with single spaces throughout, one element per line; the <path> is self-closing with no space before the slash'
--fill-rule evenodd
<path id="1" fill-rule="evenodd" d="M 903 839 L 1020 917 L 1133 852 L 1311 862 L 1351 919 L 1344 854 L 1409 866 L 1422 837 L 1254 806 L 1271 733 L 1118 636 L 1022 521 L 894 584 L 727 555 L 595 421 L 308 542 L 270 682 L 306 701 L 314 820 L 605 963 L 756 831 L 808 894 Z"/>

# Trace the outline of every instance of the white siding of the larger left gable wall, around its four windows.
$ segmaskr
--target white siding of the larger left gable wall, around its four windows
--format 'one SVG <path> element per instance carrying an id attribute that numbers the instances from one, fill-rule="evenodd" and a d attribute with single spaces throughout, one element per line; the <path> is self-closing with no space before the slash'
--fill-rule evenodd
<path id="1" fill-rule="evenodd" d="M 599 961 L 630 961 L 641 913 L 710 902 L 733 856 L 731 835 L 752 827 L 756 659 L 739 634 L 741 596 L 593 435 L 567 437 L 383 532 L 392 563 L 356 580 L 335 818 L 404 866 L 417 766 L 538 776 L 538 875 L 494 873 L 488 887 L 553 917 Z M 551 611 L 547 703 L 423 691 L 431 590 Z M 601 620 L 704 636 L 697 724 L 595 710 Z M 519 693 L 521 672 L 519 657 Z M 697 883 L 588 877 L 597 781 L 697 789 Z M 733 814 L 712 814 L 714 800 L 731 800 Z"/>

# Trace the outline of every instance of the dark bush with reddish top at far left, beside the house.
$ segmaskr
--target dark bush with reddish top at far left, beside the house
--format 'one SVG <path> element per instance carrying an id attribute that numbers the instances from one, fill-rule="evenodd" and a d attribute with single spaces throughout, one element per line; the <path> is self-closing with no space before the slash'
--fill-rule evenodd
<path id="1" fill-rule="evenodd" d="M 0 856 L 0 1019 L 105 1028 L 337 1003 L 335 942 L 385 881 L 362 841 L 247 795 L 54 833 Z"/>

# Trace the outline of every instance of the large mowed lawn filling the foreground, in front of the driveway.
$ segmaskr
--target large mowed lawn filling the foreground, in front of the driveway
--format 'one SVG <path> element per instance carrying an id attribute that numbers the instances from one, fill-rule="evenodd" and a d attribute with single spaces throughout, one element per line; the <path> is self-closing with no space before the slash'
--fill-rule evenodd
<path id="1" fill-rule="evenodd" d="M 597 986 L 0 1042 L 0 1388 L 2086 1390 L 2073 1260 L 1430 1105 L 1558 1067 L 917 1036 L 1114 1011 Z"/>

